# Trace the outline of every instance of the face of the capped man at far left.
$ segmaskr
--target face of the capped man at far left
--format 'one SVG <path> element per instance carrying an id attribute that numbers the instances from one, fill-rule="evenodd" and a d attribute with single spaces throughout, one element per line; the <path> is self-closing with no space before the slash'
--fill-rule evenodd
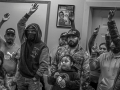
<path id="1" fill-rule="evenodd" d="M 4 37 L 5 37 L 6 42 L 9 45 L 13 45 L 15 38 L 16 38 L 14 33 L 6 33 Z"/>

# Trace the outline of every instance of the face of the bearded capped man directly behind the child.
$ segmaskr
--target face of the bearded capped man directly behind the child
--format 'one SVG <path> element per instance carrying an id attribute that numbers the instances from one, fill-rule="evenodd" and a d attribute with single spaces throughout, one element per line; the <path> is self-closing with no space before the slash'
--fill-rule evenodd
<path id="1" fill-rule="evenodd" d="M 79 38 L 74 36 L 74 35 L 71 35 L 68 37 L 68 45 L 71 47 L 71 48 L 74 48 L 78 45 L 78 42 L 79 42 Z"/>

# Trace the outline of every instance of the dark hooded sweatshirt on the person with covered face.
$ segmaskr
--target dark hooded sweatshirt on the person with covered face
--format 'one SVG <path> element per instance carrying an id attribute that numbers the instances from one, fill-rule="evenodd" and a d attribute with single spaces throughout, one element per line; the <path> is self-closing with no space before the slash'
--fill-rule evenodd
<path id="1" fill-rule="evenodd" d="M 25 30 L 25 22 L 29 16 L 26 14 L 18 23 L 18 32 L 20 30 L 24 30 L 24 32 L 21 32 L 22 35 L 19 34 L 20 40 L 21 40 L 21 57 L 20 57 L 20 63 L 19 63 L 19 72 L 22 74 L 22 76 L 27 78 L 33 78 L 35 77 L 39 67 L 40 63 L 44 63 L 44 68 L 47 69 L 47 61 L 40 61 L 41 52 L 44 48 L 47 48 L 46 44 L 41 41 L 42 32 L 38 24 L 32 23 L 27 26 L 34 27 L 37 35 L 35 36 L 35 40 L 33 42 L 29 42 L 26 38 L 26 30 Z M 29 30 L 29 29 L 28 29 Z M 47 48 L 48 49 L 48 48 Z"/>

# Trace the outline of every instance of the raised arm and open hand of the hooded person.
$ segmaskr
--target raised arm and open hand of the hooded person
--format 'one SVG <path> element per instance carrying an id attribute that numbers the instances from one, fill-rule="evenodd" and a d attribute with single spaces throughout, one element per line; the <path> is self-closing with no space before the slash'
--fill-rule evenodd
<path id="1" fill-rule="evenodd" d="M 21 44 L 24 42 L 24 30 L 26 27 L 26 22 L 29 19 L 29 17 L 38 9 L 38 6 L 39 5 L 37 3 L 32 4 L 30 11 L 28 13 L 26 13 L 17 24 L 18 35 L 19 35 L 19 39 L 20 39 Z"/>

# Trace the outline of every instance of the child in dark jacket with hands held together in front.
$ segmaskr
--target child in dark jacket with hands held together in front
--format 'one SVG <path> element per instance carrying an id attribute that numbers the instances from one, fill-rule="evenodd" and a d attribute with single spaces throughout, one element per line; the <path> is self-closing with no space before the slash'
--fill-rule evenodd
<path id="1" fill-rule="evenodd" d="M 79 90 L 80 77 L 73 69 L 73 58 L 65 55 L 60 61 L 59 70 L 48 76 L 48 83 L 53 85 L 51 90 Z"/>

